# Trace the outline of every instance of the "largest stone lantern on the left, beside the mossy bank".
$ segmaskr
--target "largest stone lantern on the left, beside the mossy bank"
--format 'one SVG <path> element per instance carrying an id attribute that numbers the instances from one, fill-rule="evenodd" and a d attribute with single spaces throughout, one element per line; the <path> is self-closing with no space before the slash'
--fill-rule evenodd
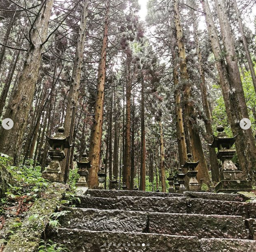
<path id="1" fill-rule="evenodd" d="M 61 172 L 60 161 L 65 159 L 65 148 L 70 148 L 69 137 L 64 135 L 65 129 L 59 127 L 57 133 L 53 138 L 47 137 L 47 141 L 51 146 L 51 149 L 48 150 L 48 155 L 52 159 L 51 163 L 46 167 L 45 171 L 42 174 L 44 179 L 47 179 L 52 182 L 63 182 L 64 174 Z"/>

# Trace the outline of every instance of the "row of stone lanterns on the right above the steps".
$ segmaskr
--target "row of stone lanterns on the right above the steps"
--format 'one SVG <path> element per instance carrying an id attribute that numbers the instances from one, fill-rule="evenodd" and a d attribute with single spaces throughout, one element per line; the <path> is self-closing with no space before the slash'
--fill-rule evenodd
<path id="1" fill-rule="evenodd" d="M 231 149 L 235 144 L 238 135 L 235 137 L 228 137 L 224 132 L 223 126 L 217 127 L 217 136 L 213 135 L 213 143 L 210 144 L 212 148 L 217 148 L 217 158 L 222 162 L 222 169 L 220 173 L 220 182 L 215 187 L 216 193 L 237 193 L 239 191 L 251 191 L 252 182 L 247 180 L 242 171 L 239 171 L 236 165 L 233 163 L 232 158 L 234 157 L 236 151 Z M 187 160 L 183 168 L 188 171 L 186 174 L 183 173 L 182 168 L 178 170 L 175 176 L 170 174 L 169 181 L 169 192 L 183 193 L 186 190 L 189 191 L 199 191 L 201 186 L 197 180 L 196 167 L 199 161 L 195 162 L 191 154 L 187 155 Z M 185 176 L 189 177 L 188 188 L 185 188 Z"/>

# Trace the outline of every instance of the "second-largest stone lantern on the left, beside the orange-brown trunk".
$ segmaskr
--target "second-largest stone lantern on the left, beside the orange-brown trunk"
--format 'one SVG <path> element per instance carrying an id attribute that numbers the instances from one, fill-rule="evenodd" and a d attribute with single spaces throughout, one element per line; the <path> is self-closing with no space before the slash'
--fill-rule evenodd
<path id="1" fill-rule="evenodd" d="M 82 159 L 80 161 L 76 161 L 78 167 L 78 174 L 80 178 L 76 183 L 76 186 L 87 187 L 87 178 L 89 174 L 89 169 L 91 168 L 91 162 L 89 162 L 87 154 L 84 153 L 82 155 Z"/>

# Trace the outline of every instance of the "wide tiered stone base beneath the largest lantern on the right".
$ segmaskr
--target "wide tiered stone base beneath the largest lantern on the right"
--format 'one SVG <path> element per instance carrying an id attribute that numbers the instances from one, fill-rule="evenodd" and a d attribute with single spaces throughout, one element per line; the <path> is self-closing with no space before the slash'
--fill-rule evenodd
<path id="1" fill-rule="evenodd" d="M 222 180 L 216 187 L 216 193 L 237 193 L 252 191 L 252 182 L 248 180 Z"/>

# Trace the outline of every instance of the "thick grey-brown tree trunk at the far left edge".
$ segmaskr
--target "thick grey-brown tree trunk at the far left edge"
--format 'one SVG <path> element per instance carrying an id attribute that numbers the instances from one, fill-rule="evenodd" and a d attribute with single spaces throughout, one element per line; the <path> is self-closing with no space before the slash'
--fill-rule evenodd
<path id="1" fill-rule="evenodd" d="M 33 95 L 38 79 L 42 61 L 42 41 L 47 38 L 48 24 L 54 0 L 42 2 L 41 11 L 38 14 L 31 31 L 31 43 L 28 48 L 26 61 L 21 77 L 17 84 L 17 91 L 10 100 L 5 118 L 14 121 L 11 130 L 0 129 L 0 152 L 14 157 L 14 163 L 22 146 L 23 136 L 26 130 L 28 115 L 33 101 Z M 14 141 L 15 139 L 15 141 Z"/>

